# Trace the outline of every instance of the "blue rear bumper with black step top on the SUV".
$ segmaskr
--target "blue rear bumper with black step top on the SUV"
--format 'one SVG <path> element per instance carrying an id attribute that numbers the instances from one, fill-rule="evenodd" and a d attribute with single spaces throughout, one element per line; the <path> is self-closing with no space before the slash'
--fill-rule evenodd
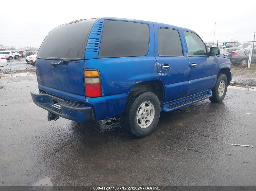
<path id="1" fill-rule="evenodd" d="M 32 100 L 36 105 L 57 116 L 78 122 L 95 120 L 92 108 L 85 106 L 83 103 L 56 97 L 40 90 L 32 91 L 30 93 Z M 60 105 L 55 105 L 56 102 L 59 102 Z"/>

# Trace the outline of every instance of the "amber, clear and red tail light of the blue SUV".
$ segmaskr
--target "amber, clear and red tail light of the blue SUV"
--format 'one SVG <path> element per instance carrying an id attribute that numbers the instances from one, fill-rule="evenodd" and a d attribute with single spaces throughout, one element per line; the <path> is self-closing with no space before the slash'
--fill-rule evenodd
<path id="1" fill-rule="evenodd" d="M 84 70 L 85 96 L 101 97 L 101 78 L 98 70 Z"/>

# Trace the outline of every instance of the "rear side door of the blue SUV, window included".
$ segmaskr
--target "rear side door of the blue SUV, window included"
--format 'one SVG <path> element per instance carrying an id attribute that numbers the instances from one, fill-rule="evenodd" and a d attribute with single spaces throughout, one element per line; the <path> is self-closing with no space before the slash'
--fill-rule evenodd
<path id="1" fill-rule="evenodd" d="M 154 23 L 158 78 L 165 84 L 165 102 L 185 97 L 189 87 L 189 62 L 177 27 Z"/>

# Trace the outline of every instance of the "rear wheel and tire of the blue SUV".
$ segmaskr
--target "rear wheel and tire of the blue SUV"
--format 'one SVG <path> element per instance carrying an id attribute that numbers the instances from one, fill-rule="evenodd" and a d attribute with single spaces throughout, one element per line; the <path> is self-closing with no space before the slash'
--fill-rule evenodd
<path id="1" fill-rule="evenodd" d="M 128 97 L 121 122 L 130 134 L 136 137 L 145 137 L 154 131 L 159 116 L 160 103 L 158 97 L 149 91 L 135 91 Z"/>

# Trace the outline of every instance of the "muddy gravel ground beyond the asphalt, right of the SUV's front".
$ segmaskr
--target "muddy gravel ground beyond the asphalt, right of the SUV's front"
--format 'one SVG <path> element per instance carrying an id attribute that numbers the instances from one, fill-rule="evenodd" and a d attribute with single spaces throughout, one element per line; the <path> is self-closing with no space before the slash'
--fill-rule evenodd
<path id="1" fill-rule="evenodd" d="M 252 65 L 251 68 L 231 66 L 231 71 L 233 72 L 231 86 L 256 87 L 256 65 Z"/>

